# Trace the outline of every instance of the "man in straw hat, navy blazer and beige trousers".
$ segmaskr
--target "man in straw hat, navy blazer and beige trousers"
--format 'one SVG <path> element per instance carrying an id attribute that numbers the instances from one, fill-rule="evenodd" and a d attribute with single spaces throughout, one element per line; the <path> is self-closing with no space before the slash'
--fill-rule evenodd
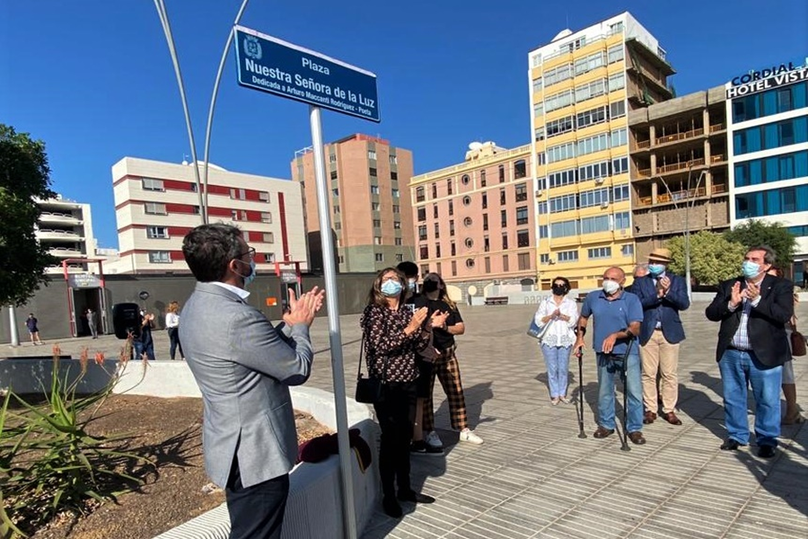
<path id="1" fill-rule="evenodd" d="M 663 405 L 660 417 L 672 425 L 681 425 L 675 412 L 679 401 L 679 345 L 685 338 L 679 313 L 688 309 L 690 300 L 685 280 L 668 271 L 672 261 L 670 251 L 654 249 L 648 255 L 648 275 L 638 278 L 631 288 L 643 305 L 639 339 L 646 425 L 656 420 L 660 396 Z"/>

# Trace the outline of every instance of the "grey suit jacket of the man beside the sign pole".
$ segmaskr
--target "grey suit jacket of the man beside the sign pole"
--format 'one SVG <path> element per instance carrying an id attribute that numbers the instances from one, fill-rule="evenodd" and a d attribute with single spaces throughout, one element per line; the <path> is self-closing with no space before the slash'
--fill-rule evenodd
<path id="1" fill-rule="evenodd" d="M 182 309 L 180 340 L 205 405 L 205 469 L 224 488 L 238 455 L 244 487 L 288 473 L 297 460 L 289 385 L 312 371 L 309 328 L 278 331 L 241 297 L 197 283 Z"/>

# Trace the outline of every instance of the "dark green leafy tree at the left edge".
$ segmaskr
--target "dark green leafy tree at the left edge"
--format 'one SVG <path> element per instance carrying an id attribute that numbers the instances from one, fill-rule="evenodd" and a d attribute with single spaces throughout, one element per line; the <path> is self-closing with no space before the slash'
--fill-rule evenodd
<path id="1" fill-rule="evenodd" d="M 49 199 L 50 168 L 45 143 L 0 124 L 0 305 L 23 305 L 56 263 L 34 235 L 40 208 Z"/>

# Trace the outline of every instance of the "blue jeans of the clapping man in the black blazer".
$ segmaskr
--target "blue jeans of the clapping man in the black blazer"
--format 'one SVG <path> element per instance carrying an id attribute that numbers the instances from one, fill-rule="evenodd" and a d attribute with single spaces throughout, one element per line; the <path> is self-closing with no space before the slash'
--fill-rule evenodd
<path id="1" fill-rule="evenodd" d="M 755 397 L 755 437 L 758 446 L 777 446 L 780 436 L 780 379 L 783 367 L 765 367 L 754 352 L 725 350 L 718 362 L 724 382 L 724 418 L 727 435 L 749 443 L 746 413 L 747 387 Z"/>

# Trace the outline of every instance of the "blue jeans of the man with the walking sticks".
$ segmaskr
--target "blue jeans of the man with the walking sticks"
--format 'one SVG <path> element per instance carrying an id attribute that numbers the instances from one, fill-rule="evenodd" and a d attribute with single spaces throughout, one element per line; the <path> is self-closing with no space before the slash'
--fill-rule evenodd
<path id="1" fill-rule="evenodd" d="M 618 358 L 619 361 L 614 361 L 609 359 L 608 354 L 598 353 L 598 425 L 603 429 L 614 429 L 614 380 L 619 378 L 619 367 L 622 367 L 622 356 Z M 626 386 L 628 391 L 626 429 L 628 432 L 638 432 L 643 429 L 643 383 L 637 353 L 628 355 Z"/>

